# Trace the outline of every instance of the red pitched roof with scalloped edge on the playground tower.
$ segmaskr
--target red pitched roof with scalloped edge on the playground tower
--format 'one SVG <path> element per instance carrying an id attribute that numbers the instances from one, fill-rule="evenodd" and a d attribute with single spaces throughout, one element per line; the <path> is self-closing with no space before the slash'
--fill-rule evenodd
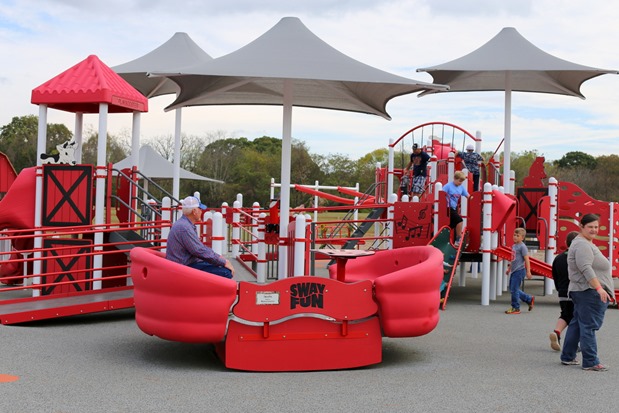
<path id="1" fill-rule="evenodd" d="M 148 99 L 95 55 L 33 89 L 30 101 L 74 113 L 99 113 L 99 103 L 109 113 L 148 111 Z"/>

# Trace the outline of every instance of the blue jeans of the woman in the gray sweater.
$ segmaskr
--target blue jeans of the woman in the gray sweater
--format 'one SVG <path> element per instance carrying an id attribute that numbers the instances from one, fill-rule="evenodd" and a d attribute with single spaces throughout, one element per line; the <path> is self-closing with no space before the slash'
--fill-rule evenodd
<path id="1" fill-rule="evenodd" d="M 585 291 L 572 291 L 570 297 L 574 303 L 574 318 L 570 321 L 563 341 L 561 360 L 574 360 L 580 342 L 582 367 L 600 364 L 595 332 L 602 327 L 608 303 L 602 302 L 600 294 L 591 288 Z"/>

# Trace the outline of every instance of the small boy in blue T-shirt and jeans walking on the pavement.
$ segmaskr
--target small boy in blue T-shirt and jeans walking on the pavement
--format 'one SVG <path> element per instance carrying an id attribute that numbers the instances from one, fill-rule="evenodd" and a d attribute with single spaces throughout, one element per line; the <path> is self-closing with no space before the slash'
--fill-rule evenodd
<path id="1" fill-rule="evenodd" d="M 527 280 L 533 277 L 531 274 L 531 262 L 529 261 L 529 249 L 523 242 L 526 234 L 527 231 L 524 228 L 516 228 L 514 231 L 514 245 L 512 246 L 514 259 L 507 268 L 507 274 L 511 274 L 509 276 L 509 291 L 512 293 L 512 307 L 505 311 L 505 314 L 520 314 L 520 301 L 529 305 L 529 311 L 535 305 L 535 297 L 526 294 L 520 289 L 525 274 Z"/>

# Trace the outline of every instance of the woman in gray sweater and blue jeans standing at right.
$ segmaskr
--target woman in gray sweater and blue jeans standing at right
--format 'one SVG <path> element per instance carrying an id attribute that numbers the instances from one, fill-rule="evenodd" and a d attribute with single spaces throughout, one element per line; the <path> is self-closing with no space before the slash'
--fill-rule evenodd
<path id="1" fill-rule="evenodd" d="M 582 368 L 589 371 L 608 370 L 598 358 L 595 332 L 602 327 L 608 303 L 614 301 L 610 262 L 593 244 L 599 219 L 596 214 L 582 217 L 580 234 L 572 241 L 567 255 L 568 294 L 574 302 L 574 318 L 565 336 L 561 363 L 579 364 L 576 351 L 580 342 Z"/>

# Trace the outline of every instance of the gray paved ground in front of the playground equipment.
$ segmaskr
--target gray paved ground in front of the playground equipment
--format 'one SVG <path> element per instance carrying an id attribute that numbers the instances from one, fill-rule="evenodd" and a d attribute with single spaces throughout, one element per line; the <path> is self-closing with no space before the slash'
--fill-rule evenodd
<path id="1" fill-rule="evenodd" d="M 355 370 L 227 370 L 211 345 L 142 333 L 132 310 L 0 325 L 0 412 L 599 412 L 616 409 L 619 311 L 598 333 L 607 372 L 563 366 L 548 334 L 559 314 L 542 283 L 532 312 L 481 306 L 480 281 L 454 287 L 438 327 L 383 339 L 383 362 Z M 300 355 L 302 356 L 302 355 Z M 5 375 L 5 376 L 3 376 Z"/>

